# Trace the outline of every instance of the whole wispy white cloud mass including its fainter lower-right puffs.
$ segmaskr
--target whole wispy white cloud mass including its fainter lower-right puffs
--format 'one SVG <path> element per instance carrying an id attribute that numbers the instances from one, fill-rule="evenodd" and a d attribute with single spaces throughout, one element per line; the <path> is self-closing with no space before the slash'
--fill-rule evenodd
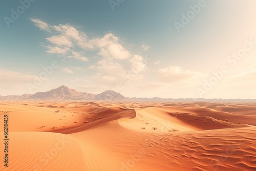
<path id="1" fill-rule="evenodd" d="M 140 55 L 133 55 L 126 50 L 119 42 L 119 37 L 107 33 L 102 37 L 88 37 L 86 33 L 77 30 L 70 24 L 49 25 L 38 19 L 31 21 L 41 30 L 50 32 L 52 35 L 46 38 L 43 45 L 47 53 L 65 55 L 66 59 L 89 61 L 84 54 L 93 54 L 95 63 L 91 63 L 88 69 L 95 70 L 91 76 L 109 83 L 116 83 L 123 80 L 135 80 L 143 78 L 147 68 L 147 61 Z M 147 50 L 145 44 L 142 47 Z M 88 53 L 87 53 L 88 52 Z M 95 58 L 97 54 L 97 58 Z M 92 61 L 95 61 L 92 60 Z M 62 69 L 62 72 L 73 73 L 70 68 Z"/>

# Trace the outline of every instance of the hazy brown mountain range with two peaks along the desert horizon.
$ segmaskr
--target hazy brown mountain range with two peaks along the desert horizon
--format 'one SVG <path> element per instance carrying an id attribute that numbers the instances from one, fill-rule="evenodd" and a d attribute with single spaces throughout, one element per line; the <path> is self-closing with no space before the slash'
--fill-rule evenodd
<path id="1" fill-rule="evenodd" d="M 221 102 L 221 101 L 255 101 L 255 99 L 203 99 L 203 98 L 137 98 L 137 97 L 124 97 L 118 92 L 112 90 L 104 91 L 100 94 L 91 94 L 86 92 L 78 92 L 74 89 L 70 89 L 67 86 L 60 86 L 56 89 L 52 89 L 47 92 L 37 92 L 35 94 L 24 94 L 24 95 L 8 95 L 0 96 L 0 99 L 49 99 L 49 100 L 118 100 L 118 101 L 184 101 L 184 102 L 196 102 L 196 101 L 212 101 L 212 102 Z"/>

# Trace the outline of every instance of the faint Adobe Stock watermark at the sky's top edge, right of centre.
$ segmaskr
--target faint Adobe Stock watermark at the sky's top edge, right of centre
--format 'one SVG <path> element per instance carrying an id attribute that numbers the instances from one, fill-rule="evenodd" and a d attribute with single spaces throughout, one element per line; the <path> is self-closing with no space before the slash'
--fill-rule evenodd
<path id="1" fill-rule="evenodd" d="M 209 0 L 210 1 L 210 0 Z M 174 26 L 176 28 L 176 30 L 178 31 L 178 33 L 180 32 L 181 28 L 184 28 L 186 25 L 188 25 L 188 23 L 195 18 L 195 16 L 201 11 L 202 8 L 204 8 L 207 4 L 205 3 L 205 0 L 199 0 L 198 1 L 198 5 L 190 5 L 189 8 L 191 10 L 189 10 L 186 15 L 185 14 L 181 14 L 181 21 L 179 22 L 174 22 Z"/>

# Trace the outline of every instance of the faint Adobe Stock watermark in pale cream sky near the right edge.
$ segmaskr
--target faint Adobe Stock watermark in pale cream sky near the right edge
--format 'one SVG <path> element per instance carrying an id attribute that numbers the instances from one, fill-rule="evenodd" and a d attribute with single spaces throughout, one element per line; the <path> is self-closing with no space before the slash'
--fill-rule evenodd
<path id="1" fill-rule="evenodd" d="M 245 39 L 245 44 L 241 49 L 239 49 L 236 53 L 232 53 L 232 55 L 227 57 L 227 62 L 231 67 L 237 65 L 237 62 L 240 61 L 245 55 L 246 52 L 250 51 L 254 45 L 256 44 L 255 41 L 252 41 L 252 38 Z M 206 94 L 208 91 L 212 89 L 224 76 L 229 72 L 230 66 L 223 65 L 221 66 L 219 71 L 212 72 L 212 76 L 208 80 L 204 80 L 203 88 L 198 88 L 197 93 L 200 98 L 203 98 L 203 95 Z"/>

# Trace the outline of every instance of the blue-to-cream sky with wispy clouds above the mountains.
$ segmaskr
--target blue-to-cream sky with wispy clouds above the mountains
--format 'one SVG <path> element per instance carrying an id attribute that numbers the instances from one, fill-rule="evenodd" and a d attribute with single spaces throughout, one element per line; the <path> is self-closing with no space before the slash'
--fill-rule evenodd
<path id="1" fill-rule="evenodd" d="M 0 2 L 0 95 L 256 98 L 254 0 Z"/>

